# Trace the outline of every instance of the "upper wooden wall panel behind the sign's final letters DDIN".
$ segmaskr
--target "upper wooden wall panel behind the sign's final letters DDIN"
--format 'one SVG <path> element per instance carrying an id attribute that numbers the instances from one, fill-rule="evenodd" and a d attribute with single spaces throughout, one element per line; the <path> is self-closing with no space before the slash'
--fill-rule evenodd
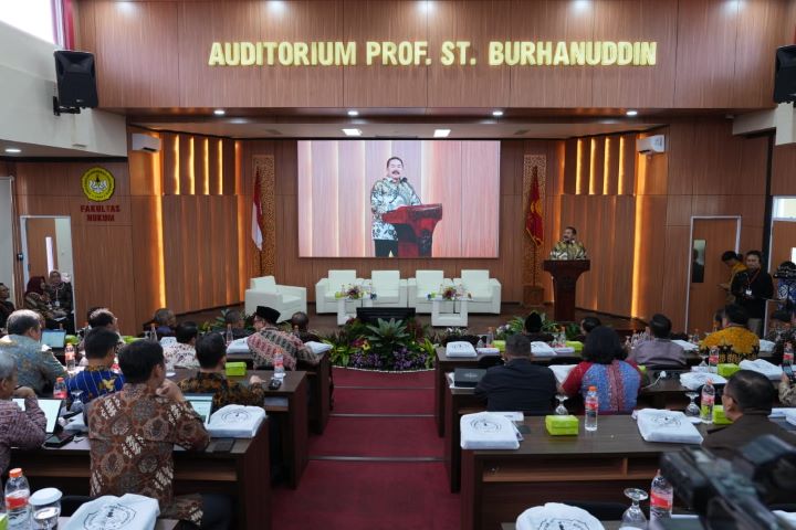
<path id="1" fill-rule="evenodd" d="M 657 64 L 598 66 L 594 71 L 595 107 L 671 107 L 674 100 L 678 2 L 601 0 L 595 2 L 596 41 L 656 41 Z"/>

